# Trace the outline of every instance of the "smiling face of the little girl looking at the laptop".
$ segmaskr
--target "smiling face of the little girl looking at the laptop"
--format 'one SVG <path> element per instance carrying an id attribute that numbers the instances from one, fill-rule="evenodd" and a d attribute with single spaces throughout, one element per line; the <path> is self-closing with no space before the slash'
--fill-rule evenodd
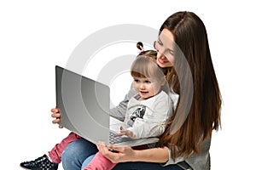
<path id="1" fill-rule="evenodd" d="M 158 94 L 161 88 L 160 82 L 143 77 L 133 77 L 133 88 L 140 94 L 141 100 L 148 99 Z"/>

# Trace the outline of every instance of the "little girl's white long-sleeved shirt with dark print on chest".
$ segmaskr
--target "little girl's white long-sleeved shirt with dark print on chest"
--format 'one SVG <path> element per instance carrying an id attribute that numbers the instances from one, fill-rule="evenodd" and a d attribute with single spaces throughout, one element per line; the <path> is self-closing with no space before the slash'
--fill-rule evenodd
<path id="1" fill-rule="evenodd" d="M 172 116 L 172 99 L 164 91 L 145 100 L 138 100 L 137 95 L 127 105 L 124 122 L 131 126 L 127 130 L 136 139 L 160 136 L 165 131 L 166 120 Z"/>

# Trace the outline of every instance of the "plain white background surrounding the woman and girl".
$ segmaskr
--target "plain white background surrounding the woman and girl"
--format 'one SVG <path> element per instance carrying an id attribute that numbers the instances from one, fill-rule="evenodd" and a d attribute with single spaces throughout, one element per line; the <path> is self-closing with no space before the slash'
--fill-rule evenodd
<path id="1" fill-rule="evenodd" d="M 79 42 L 95 31 L 118 24 L 140 24 L 158 30 L 169 15 L 180 10 L 195 12 L 207 27 L 224 99 L 222 130 L 212 135 L 212 169 L 254 168 L 254 5 L 247 1 L 177 0 L 1 1 L 0 168 L 20 169 L 20 161 L 42 156 L 67 135 L 67 130 L 51 123 L 55 65 L 65 66 Z M 131 54 L 129 50 L 124 53 Z M 134 51 L 136 54 L 137 48 Z M 130 85 L 130 79 L 124 80 L 118 77 L 113 84 Z M 122 95 L 117 99 L 125 92 L 118 91 Z"/>

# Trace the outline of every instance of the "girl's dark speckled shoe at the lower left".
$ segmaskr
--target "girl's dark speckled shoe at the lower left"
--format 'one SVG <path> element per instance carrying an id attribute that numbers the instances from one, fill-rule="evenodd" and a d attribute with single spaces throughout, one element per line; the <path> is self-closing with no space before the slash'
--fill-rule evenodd
<path id="1" fill-rule="evenodd" d="M 32 169 L 32 170 L 57 170 L 58 169 L 58 163 L 54 163 L 49 161 L 48 156 L 44 155 L 41 157 L 38 157 L 34 161 L 24 161 L 20 163 L 20 167 L 24 167 L 26 169 Z"/>

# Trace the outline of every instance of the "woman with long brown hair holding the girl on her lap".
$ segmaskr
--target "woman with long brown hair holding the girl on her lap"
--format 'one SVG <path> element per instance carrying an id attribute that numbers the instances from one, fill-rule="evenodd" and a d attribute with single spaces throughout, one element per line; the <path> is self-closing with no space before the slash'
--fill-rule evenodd
<path id="1" fill-rule="evenodd" d="M 154 48 L 158 51 L 158 65 L 170 67 L 166 78 L 175 104 L 174 115 L 167 123 L 159 147 L 132 150 L 111 145 L 110 149 L 119 151 L 113 153 L 99 143 L 97 149 L 110 161 L 119 163 L 114 169 L 209 169 L 212 130 L 220 126 L 221 96 L 206 28 L 194 13 L 177 12 L 160 27 Z M 113 110 L 115 116 L 124 116 L 126 101 L 132 96 L 130 93 Z M 179 95 L 177 102 L 176 94 Z M 60 117 L 57 110 L 52 111 L 53 117 Z M 67 146 L 62 154 L 65 169 L 80 169 L 90 161 L 96 149 L 87 143 L 85 139 L 77 139 Z"/>

